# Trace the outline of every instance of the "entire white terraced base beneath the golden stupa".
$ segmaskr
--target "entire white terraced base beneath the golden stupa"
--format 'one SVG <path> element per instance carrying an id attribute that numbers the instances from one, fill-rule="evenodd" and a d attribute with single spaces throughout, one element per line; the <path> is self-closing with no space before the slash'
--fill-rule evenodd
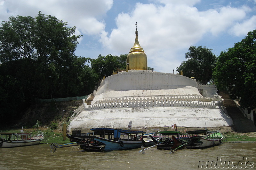
<path id="1" fill-rule="evenodd" d="M 91 105 L 84 103 L 82 111 L 75 112 L 68 131 L 127 128 L 130 121 L 133 129 L 170 127 L 175 123 L 193 128 L 204 128 L 205 124 L 232 126 L 223 101 L 216 95 L 214 85 L 198 85 L 178 74 L 151 70 L 119 72 L 101 82 Z"/>

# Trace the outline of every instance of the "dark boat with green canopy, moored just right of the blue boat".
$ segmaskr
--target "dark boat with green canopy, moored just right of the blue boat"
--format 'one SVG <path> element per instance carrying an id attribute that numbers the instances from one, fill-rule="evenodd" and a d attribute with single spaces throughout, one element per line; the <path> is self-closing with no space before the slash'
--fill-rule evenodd
<path id="1" fill-rule="evenodd" d="M 154 139 L 156 136 L 151 136 L 152 140 L 157 144 L 157 149 L 174 150 L 178 147 L 181 149 L 182 147 L 180 146 L 184 146 L 188 143 L 188 135 L 180 131 L 160 131 L 158 133 L 161 134 L 161 136 L 157 136 L 159 137 L 159 141 Z"/>

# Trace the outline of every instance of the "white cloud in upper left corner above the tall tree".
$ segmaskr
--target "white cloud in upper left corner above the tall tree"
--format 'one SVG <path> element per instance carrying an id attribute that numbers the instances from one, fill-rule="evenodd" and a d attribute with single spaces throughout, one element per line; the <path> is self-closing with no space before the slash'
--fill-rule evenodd
<path id="1" fill-rule="evenodd" d="M 112 5 L 113 0 L 6 0 L 0 1 L 0 19 L 6 21 L 11 15 L 35 17 L 42 11 L 68 21 L 83 34 L 99 35 L 105 29 L 102 18 Z"/>

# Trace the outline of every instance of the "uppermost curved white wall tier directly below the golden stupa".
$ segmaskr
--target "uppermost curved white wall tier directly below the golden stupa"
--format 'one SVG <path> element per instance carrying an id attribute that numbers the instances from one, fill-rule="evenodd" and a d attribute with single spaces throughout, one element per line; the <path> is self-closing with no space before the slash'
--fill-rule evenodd
<path id="1" fill-rule="evenodd" d="M 104 79 L 92 104 L 114 97 L 142 96 L 202 96 L 197 83 L 188 77 L 152 72 L 151 70 L 129 70 Z"/>

